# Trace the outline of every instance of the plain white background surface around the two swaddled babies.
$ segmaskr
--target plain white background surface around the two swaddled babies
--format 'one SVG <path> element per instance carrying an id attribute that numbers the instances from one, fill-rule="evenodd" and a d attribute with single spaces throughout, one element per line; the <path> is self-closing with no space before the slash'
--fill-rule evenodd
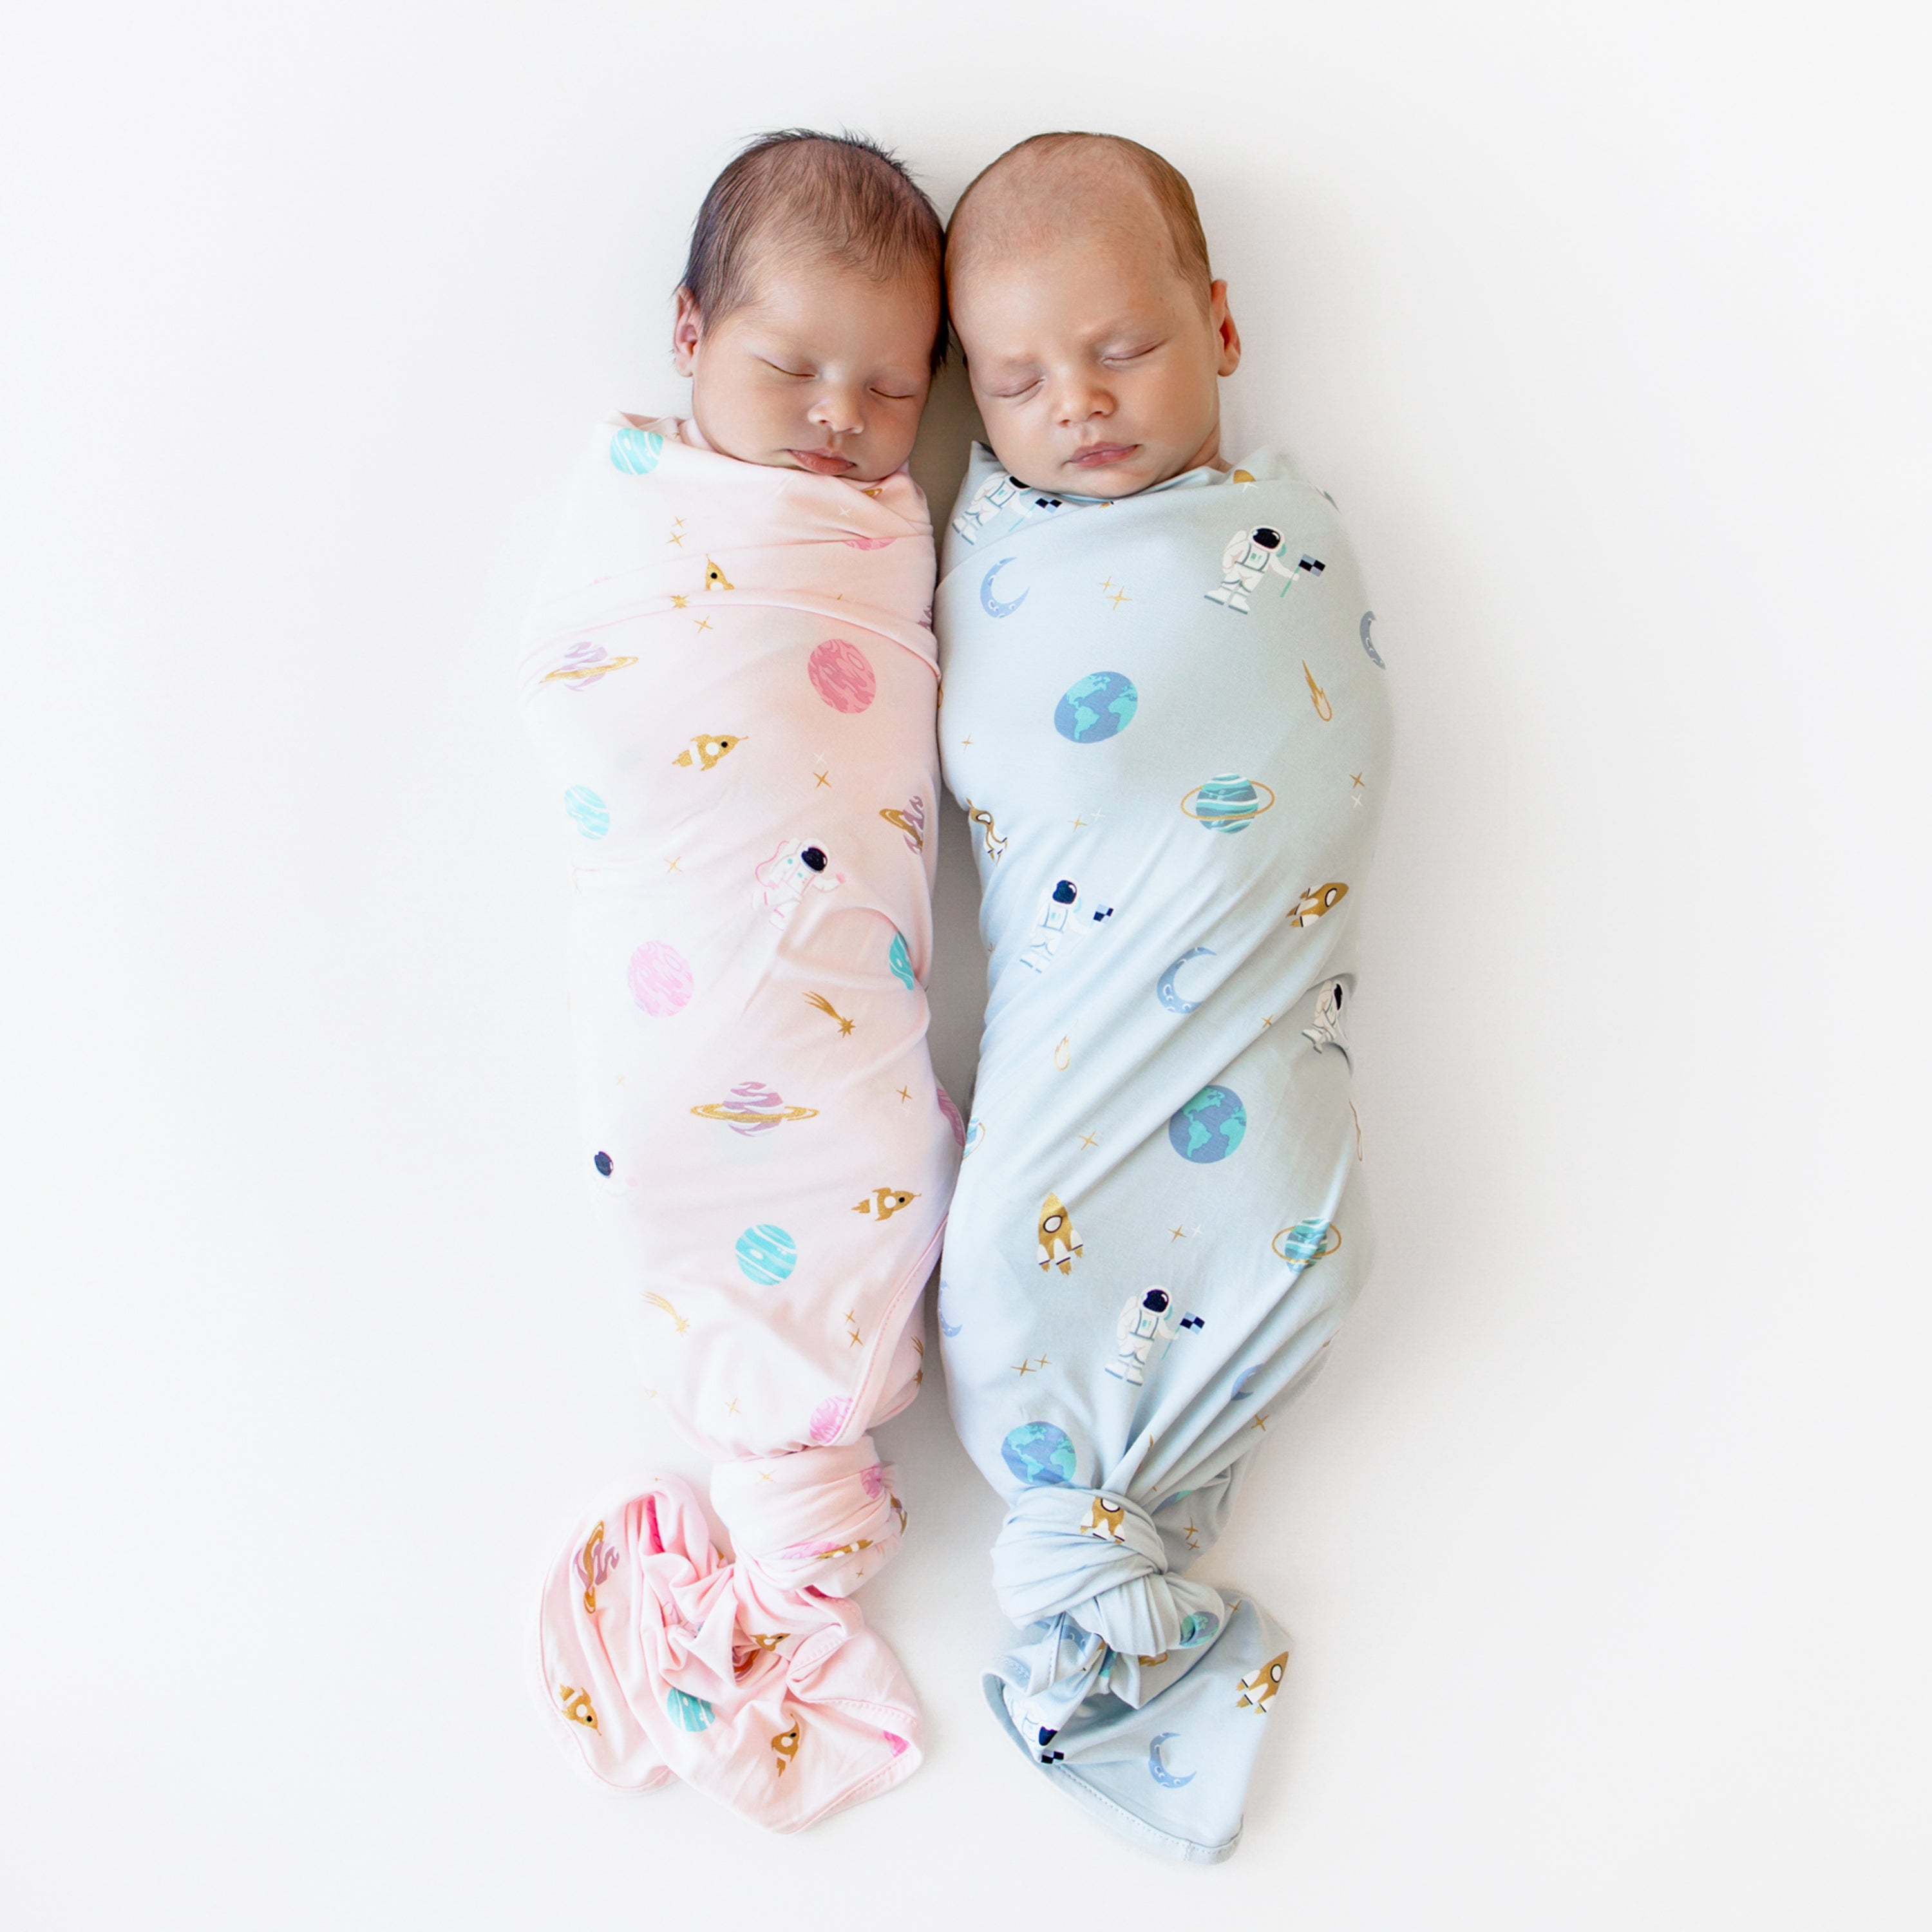
<path id="1" fill-rule="evenodd" d="M 1922 1924 L 1905 21 L 17 10 L 0 1915 Z M 980 1706 L 997 1509 L 937 1376 L 866 1592 L 927 1704 L 902 1791 L 802 1839 L 605 1797 L 526 1689 L 574 1513 L 697 1464 L 585 1285 L 506 659 L 585 425 L 682 402 L 705 184 L 784 124 L 896 143 L 941 207 L 1041 128 L 1167 153 L 1248 344 L 1229 442 L 1296 450 L 1376 587 L 1383 1248 L 1206 1561 L 1296 1640 L 1215 1870 L 1105 1835 Z M 943 922 L 964 1090 L 956 835 Z"/>

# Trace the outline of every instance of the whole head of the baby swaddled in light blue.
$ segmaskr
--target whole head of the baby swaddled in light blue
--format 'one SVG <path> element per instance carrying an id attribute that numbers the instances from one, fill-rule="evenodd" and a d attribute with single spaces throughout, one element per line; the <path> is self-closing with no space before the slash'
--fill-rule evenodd
<path id="1" fill-rule="evenodd" d="M 993 452 L 1034 489 L 1132 497 L 1221 462 L 1240 365 L 1186 178 L 1138 141 L 1041 133 L 960 195 L 947 296 Z"/>

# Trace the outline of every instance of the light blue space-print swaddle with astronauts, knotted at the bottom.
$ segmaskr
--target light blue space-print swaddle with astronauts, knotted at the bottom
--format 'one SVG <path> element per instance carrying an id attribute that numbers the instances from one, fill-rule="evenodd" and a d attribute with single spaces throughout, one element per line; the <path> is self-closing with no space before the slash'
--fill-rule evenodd
<path id="1" fill-rule="evenodd" d="M 1389 777 L 1374 612 L 1273 456 L 1117 502 L 974 450 L 937 595 L 989 949 L 941 1264 L 1009 1515 L 987 1698 L 1115 1830 L 1227 1857 L 1289 1640 L 1186 1575 L 1374 1248 L 1356 914 Z"/>

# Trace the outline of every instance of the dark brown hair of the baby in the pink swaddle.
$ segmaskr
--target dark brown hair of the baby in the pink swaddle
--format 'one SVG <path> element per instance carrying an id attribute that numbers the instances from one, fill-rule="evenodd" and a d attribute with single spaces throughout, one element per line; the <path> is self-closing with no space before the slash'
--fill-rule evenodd
<path id="1" fill-rule="evenodd" d="M 796 249 L 877 282 L 929 274 L 939 294 L 931 365 L 947 359 L 945 228 L 891 151 L 858 133 L 781 128 L 736 155 L 692 222 L 684 288 L 707 325 L 757 294 L 761 249 Z"/>

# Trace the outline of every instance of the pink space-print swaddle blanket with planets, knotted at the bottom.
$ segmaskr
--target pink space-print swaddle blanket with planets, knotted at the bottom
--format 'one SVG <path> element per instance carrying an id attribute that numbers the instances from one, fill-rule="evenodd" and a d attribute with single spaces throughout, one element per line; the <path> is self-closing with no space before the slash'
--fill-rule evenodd
<path id="1" fill-rule="evenodd" d="M 618 417 L 522 655 L 572 827 L 583 1165 L 659 1478 L 545 1588 L 585 1764 L 798 1830 L 908 1776 L 918 1706 L 846 1598 L 904 1509 L 866 1430 L 922 1378 L 962 1128 L 925 1047 L 933 541 L 906 475 L 742 464 Z"/>

